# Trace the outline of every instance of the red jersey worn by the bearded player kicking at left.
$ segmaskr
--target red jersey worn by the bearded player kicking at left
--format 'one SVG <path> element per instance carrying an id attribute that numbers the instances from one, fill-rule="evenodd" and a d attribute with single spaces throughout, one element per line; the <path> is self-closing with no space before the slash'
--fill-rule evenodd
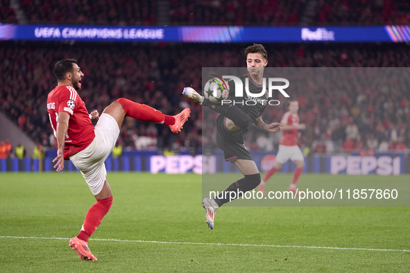
<path id="1" fill-rule="evenodd" d="M 47 97 L 47 112 L 49 112 L 51 128 L 54 136 L 57 129 L 58 113 L 67 112 L 70 114 L 69 127 L 65 136 L 64 159 L 68 160 L 69 155 L 74 155 L 89 146 L 94 140 L 94 125 L 89 119 L 85 103 L 74 87 L 62 85 L 55 87 Z"/>

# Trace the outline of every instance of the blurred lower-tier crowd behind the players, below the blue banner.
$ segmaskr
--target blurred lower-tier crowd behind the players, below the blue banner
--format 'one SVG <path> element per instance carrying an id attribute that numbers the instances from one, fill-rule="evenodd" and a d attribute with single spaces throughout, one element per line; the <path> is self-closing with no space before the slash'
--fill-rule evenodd
<path id="1" fill-rule="evenodd" d="M 268 67 L 410 67 L 406 44 L 265 46 Z M 47 94 L 56 85 L 53 65 L 63 58 L 76 58 L 85 74 L 79 94 L 89 112 L 98 109 L 101 114 L 104 107 L 119 97 L 151 105 L 165 114 L 191 108 L 191 118 L 180 134 L 172 134 L 164 125 L 126 118 L 119 138 L 124 150 L 177 150 L 194 154 L 216 148 L 216 114 L 203 116 L 201 107 L 184 98 L 181 91 L 185 86 L 201 90 L 202 67 L 245 67 L 243 48 L 244 45 L 218 44 L 1 42 L 0 55 L 4 57 L 0 63 L 0 110 L 37 143 L 55 147 L 45 106 Z M 336 73 L 323 79 L 320 87 L 327 86 L 325 89 L 319 88 L 315 80 L 303 80 L 294 91 L 289 90 L 300 103 L 301 123 L 307 124 L 307 130 L 300 132 L 300 146 L 316 153 L 409 148 L 407 70 L 392 68 L 385 74 L 377 70 L 368 77 L 375 82 L 361 82 L 349 78 L 350 74 L 345 77 Z M 318 80 L 314 75 L 311 78 Z M 283 102 L 283 98 L 280 100 Z M 264 121 L 280 121 L 285 112 L 282 105 L 268 107 Z M 251 126 L 246 146 L 250 150 L 273 150 L 280 136 Z"/>

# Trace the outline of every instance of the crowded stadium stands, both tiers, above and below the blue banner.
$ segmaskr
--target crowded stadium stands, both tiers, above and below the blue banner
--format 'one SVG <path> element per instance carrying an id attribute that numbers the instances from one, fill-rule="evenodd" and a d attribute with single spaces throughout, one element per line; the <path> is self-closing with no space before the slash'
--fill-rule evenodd
<path id="1" fill-rule="evenodd" d="M 1 0 L 0 3 L 3 24 L 17 23 L 19 12 L 28 24 L 155 25 L 168 21 L 171 25 L 293 26 L 408 24 L 410 21 L 410 4 L 405 0 L 171 0 L 167 2 L 169 9 L 165 14 L 163 7 L 160 8 L 161 1 L 22 0 L 11 5 L 9 0 Z M 106 46 L 1 42 L 0 54 L 4 57 L 0 63 L 3 72 L 0 109 L 36 142 L 54 146 L 43 103 L 46 94 L 55 86 L 52 73 L 55 60 L 75 57 L 85 72 L 82 96 L 90 111 L 95 108 L 101 113 L 103 107 L 119 96 L 152 105 L 169 114 L 187 106 L 193 110 L 186 130 L 178 135 L 170 134 L 161 126 L 126 121 L 121 131 L 125 149 L 196 152 L 201 148 L 214 148 L 213 125 L 202 124 L 200 107 L 182 98 L 180 91 L 185 85 L 200 90 L 201 67 L 243 67 L 240 50 L 244 46 L 231 44 L 227 50 L 226 46 L 216 44 Z M 410 66 L 405 44 L 265 46 L 270 67 Z M 409 148 L 410 97 L 407 90 L 401 88 L 393 94 L 361 96 L 347 86 L 345 91 L 332 96 L 325 91 L 318 97 L 299 96 L 300 118 L 308 127 L 302 132 L 300 146 L 309 147 L 313 152 L 361 150 L 364 146 L 373 150 Z M 335 102 L 342 103 L 330 107 Z M 265 119 L 279 121 L 283 112 L 284 109 L 276 107 Z M 352 131 L 350 126 L 358 127 L 354 137 L 347 137 Z M 260 133 L 251 127 L 246 144 L 252 150 L 266 149 L 269 141 L 277 145 L 279 136 Z"/>

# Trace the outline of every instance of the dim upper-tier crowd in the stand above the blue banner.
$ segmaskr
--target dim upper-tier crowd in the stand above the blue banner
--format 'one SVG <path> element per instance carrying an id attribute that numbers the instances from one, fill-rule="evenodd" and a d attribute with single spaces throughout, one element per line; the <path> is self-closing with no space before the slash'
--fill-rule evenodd
<path id="1" fill-rule="evenodd" d="M 17 0 L 28 24 L 382 25 L 408 24 L 407 0 Z M 2 23 L 17 23 L 10 0 Z M 15 6 L 13 6 L 15 7 Z"/>

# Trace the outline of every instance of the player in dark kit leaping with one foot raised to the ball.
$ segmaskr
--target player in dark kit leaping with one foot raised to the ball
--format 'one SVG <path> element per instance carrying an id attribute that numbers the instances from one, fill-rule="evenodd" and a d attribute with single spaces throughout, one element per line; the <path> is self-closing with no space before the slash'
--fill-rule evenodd
<path id="1" fill-rule="evenodd" d="M 240 76 L 245 87 L 245 81 L 248 79 L 249 91 L 251 94 L 260 94 L 262 92 L 262 80 L 264 74 L 264 67 L 268 64 L 266 60 L 268 53 L 262 44 L 254 44 L 248 46 L 244 50 L 246 57 L 246 67 L 248 74 Z M 248 132 L 248 127 L 254 125 L 266 132 L 280 132 L 283 126 L 280 123 L 266 124 L 262 121 L 262 114 L 268 104 L 268 94 L 260 97 L 246 96 L 244 98 L 237 98 L 234 96 L 234 80 L 229 80 L 230 104 L 214 104 L 207 98 L 200 96 L 191 87 L 185 87 L 182 94 L 194 100 L 195 103 L 209 107 L 212 111 L 219 113 L 216 118 L 216 143 L 219 148 L 223 150 L 223 157 L 225 161 L 230 161 L 234 166 L 244 175 L 242 179 L 232 183 L 223 193 L 215 198 L 205 198 L 202 202 L 205 209 L 207 224 L 210 229 L 214 229 L 214 216 L 216 210 L 223 204 L 230 202 L 231 192 L 245 193 L 256 188 L 261 182 L 261 175 L 259 170 L 250 155 L 250 152 L 244 145 L 244 134 Z M 246 92 L 244 91 L 244 94 Z M 245 100 L 253 100 L 253 103 L 243 103 Z"/>

